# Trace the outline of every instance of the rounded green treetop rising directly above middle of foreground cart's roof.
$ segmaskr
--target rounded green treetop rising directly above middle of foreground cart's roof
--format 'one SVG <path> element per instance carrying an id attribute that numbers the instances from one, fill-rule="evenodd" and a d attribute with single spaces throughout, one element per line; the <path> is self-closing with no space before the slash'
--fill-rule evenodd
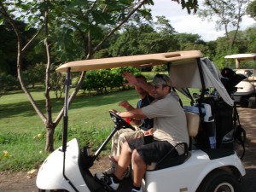
<path id="1" fill-rule="evenodd" d="M 137 25 L 125 26 L 125 32 L 119 34 L 109 51 L 113 56 L 171 51 L 177 48 L 175 33 L 170 20 L 164 16 L 158 16 L 154 23 L 137 20 Z"/>

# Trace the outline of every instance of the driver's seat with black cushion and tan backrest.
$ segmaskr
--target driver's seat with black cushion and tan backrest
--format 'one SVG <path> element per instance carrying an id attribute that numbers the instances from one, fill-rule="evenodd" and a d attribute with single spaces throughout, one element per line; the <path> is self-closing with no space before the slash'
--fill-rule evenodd
<path id="1" fill-rule="evenodd" d="M 197 113 L 185 112 L 187 119 L 187 128 L 189 131 L 189 145 L 191 144 L 192 137 L 196 137 L 199 131 L 200 125 L 200 116 Z M 147 166 L 147 171 L 155 171 L 164 169 L 171 166 L 178 166 L 183 164 L 185 160 L 189 158 L 189 148 L 187 143 L 177 143 L 175 148 L 178 145 L 183 145 L 183 154 L 180 154 L 177 157 L 172 157 L 170 154 L 172 150 L 166 154 L 159 162 L 153 162 L 151 165 Z M 173 149 L 173 148 L 172 148 Z"/>

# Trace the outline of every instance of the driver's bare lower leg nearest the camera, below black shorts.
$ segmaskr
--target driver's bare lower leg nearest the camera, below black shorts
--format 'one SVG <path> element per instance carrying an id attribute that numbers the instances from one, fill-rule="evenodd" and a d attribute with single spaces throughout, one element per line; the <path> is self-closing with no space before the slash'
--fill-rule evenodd
<path id="1" fill-rule="evenodd" d="M 133 185 L 135 187 L 141 187 L 147 165 L 136 149 L 132 152 L 131 161 L 133 170 Z"/>

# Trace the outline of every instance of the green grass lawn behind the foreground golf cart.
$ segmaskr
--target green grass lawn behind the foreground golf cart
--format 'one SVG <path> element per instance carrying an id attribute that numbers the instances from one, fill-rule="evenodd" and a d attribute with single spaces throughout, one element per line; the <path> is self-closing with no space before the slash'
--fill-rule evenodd
<path id="1" fill-rule="evenodd" d="M 44 108 L 44 90 L 31 90 L 38 106 Z M 52 95 L 52 98 L 54 96 Z M 80 147 L 89 144 L 95 151 L 113 129 L 108 110 L 124 110 L 118 106 L 127 100 L 136 106 L 135 90 L 123 90 L 103 96 L 88 96 L 79 92 L 68 112 L 68 139 L 77 137 Z M 64 99 L 52 100 L 53 117 Z M 187 101 L 188 105 L 189 101 Z M 55 129 L 55 148 L 61 146 L 62 121 Z M 45 127 L 20 90 L 0 98 L 0 171 L 27 171 L 37 168 L 49 155 L 44 152 Z M 110 149 L 108 144 L 107 149 Z M 108 150 L 105 152 L 108 153 Z"/>

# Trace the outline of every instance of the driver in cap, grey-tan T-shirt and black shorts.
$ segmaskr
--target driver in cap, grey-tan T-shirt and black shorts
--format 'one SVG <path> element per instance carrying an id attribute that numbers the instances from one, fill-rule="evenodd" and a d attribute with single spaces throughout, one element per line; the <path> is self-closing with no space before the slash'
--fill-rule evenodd
<path id="1" fill-rule="evenodd" d="M 132 163 L 131 192 L 141 192 L 147 165 L 161 160 L 177 143 L 189 143 L 189 134 L 185 113 L 175 96 L 170 93 L 172 83 L 167 75 L 155 75 L 152 84 L 138 81 L 131 73 L 125 73 L 124 77 L 128 80 L 128 84 L 139 85 L 144 90 L 148 90 L 155 100 L 144 108 L 121 112 L 119 116 L 134 119 L 153 118 L 154 128 L 144 132 L 144 136 L 153 136 L 153 139 L 148 142 L 141 137 L 124 143 L 116 171 L 112 175 L 101 177 L 100 182 L 111 190 L 117 190 L 125 169 Z M 172 150 L 174 157 L 182 153 L 181 146 Z"/>

